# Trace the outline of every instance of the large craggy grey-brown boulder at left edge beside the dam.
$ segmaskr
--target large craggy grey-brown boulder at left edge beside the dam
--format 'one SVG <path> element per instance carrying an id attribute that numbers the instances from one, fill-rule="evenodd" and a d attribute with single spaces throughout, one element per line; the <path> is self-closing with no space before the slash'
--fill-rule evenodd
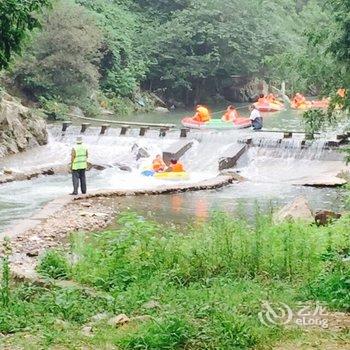
<path id="1" fill-rule="evenodd" d="M 47 143 L 45 121 L 8 95 L 0 100 L 0 157 Z"/>

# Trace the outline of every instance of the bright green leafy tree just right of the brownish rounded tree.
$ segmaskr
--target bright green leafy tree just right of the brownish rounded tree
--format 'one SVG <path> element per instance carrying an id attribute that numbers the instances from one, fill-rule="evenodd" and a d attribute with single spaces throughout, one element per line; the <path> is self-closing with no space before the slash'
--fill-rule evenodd
<path id="1" fill-rule="evenodd" d="M 108 0 L 79 0 L 97 14 L 103 33 L 101 48 L 101 88 L 120 96 L 131 97 L 148 68 L 139 33 L 145 21 L 123 4 Z"/>

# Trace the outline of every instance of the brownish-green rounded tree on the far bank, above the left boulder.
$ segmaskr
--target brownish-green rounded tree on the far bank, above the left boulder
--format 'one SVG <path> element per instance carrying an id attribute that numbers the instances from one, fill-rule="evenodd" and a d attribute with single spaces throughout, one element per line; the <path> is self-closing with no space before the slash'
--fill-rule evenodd
<path id="1" fill-rule="evenodd" d="M 45 13 L 43 31 L 14 68 L 17 85 L 29 96 L 82 103 L 98 89 L 101 33 L 86 9 L 59 2 Z"/>

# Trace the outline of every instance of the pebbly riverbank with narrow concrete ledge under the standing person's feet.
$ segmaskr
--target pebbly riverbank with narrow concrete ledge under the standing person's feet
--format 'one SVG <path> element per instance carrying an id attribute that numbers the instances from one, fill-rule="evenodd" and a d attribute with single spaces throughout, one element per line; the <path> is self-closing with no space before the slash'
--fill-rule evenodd
<path id="1" fill-rule="evenodd" d="M 63 196 L 27 220 L 20 221 L 1 234 L 11 240 L 11 270 L 20 279 L 35 279 L 38 257 L 47 249 L 66 247 L 72 232 L 92 232 L 108 227 L 118 210 L 110 199 L 125 196 L 156 196 L 215 189 L 235 181 L 221 175 L 195 184 L 163 185 L 152 190 L 104 190 L 86 196 Z"/>

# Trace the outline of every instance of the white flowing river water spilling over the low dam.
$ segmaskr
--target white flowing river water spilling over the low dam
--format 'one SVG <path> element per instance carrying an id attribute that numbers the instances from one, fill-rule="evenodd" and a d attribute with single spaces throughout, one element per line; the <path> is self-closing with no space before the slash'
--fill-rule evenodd
<path id="1" fill-rule="evenodd" d="M 242 112 L 242 114 L 244 114 Z M 171 122 L 178 124 L 183 113 L 147 116 L 150 122 Z M 135 121 L 145 117 L 135 116 Z M 141 119 L 142 118 L 142 119 Z M 130 120 L 130 118 L 129 118 Z M 296 112 L 281 112 L 265 117 L 267 128 L 296 130 L 300 127 L 300 116 Z M 69 127 L 62 135 L 60 126 L 49 128 L 50 139 L 46 146 L 1 160 L 1 167 L 28 171 L 31 169 L 69 163 L 70 149 L 79 134 L 78 126 Z M 103 171 L 88 173 L 89 190 L 94 189 L 141 189 L 155 188 L 165 181 L 140 175 L 152 157 L 161 153 L 179 139 L 179 132 L 169 132 L 160 138 L 157 131 L 150 131 L 145 137 L 132 130 L 127 136 L 119 136 L 120 130 L 110 129 L 106 135 L 99 135 L 97 128 L 89 128 L 84 142 L 89 148 L 90 161 L 106 167 Z M 184 182 L 198 182 L 218 174 L 218 161 L 239 140 L 252 135 L 252 131 L 205 131 L 191 132 L 192 148 L 182 158 L 191 178 Z M 277 140 L 277 138 L 276 138 Z M 276 144 L 273 137 L 260 142 L 242 157 L 237 170 L 247 179 L 220 190 L 201 191 L 174 195 L 118 198 L 114 201 L 119 209 L 133 208 L 147 215 L 153 213 L 160 220 L 205 218 L 213 209 L 234 213 L 238 203 L 244 203 L 252 212 L 255 202 L 267 208 L 271 203 L 279 205 L 297 195 L 304 195 L 316 208 L 339 208 L 339 191 L 295 186 L 296 181 L 313 174 L 327 174 L 343 166 L 341 157 L 324 150 L 322 141 L 309 149 L 301 149 L 300 140 L 284 140 Z M 136 146 L 147 150 L 150 157 L 138 159 Z M 121 171 L 120 165 L 131 168 Z M 23 217 L 29 217 L 44 203 L 71 192 L 68 175 L 40 177 L 31 181 L 9 183 L 0 186 L 0 229 Z M 152 215 L 152 214 L 151 214 Z"/>

